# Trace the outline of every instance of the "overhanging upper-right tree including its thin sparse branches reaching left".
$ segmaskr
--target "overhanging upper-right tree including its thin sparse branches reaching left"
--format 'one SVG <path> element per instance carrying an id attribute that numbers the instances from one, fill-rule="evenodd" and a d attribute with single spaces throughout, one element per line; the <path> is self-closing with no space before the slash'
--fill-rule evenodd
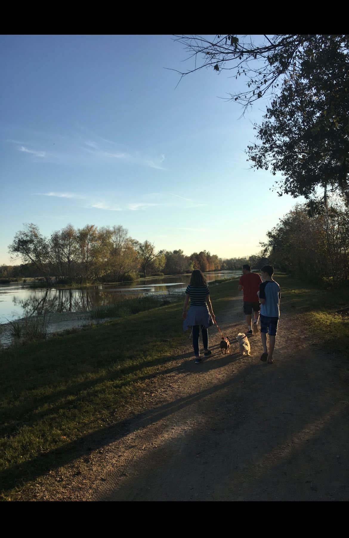
<path id="1" fill-rule="evenodd" d="M 258 144 L 248 147 L 252 167 L 282 174 L 278 194 L 311 199 L 317 187 L 349 204 L 349 34 L 236 34 L 175 36 L 195 66 L 243 76 L 246 88 L 230 94 L 244 112 L 261 97 L 271 100 L 255 125 Z"/>

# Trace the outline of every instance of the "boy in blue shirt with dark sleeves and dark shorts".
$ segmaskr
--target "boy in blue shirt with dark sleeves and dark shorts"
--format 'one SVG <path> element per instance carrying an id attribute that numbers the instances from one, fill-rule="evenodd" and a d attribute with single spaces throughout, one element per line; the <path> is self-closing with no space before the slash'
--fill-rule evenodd
<path id="1" fill-rule="evenodd" d="M 273 280 L 274 267 L 265 265 L 260 270 L 263 282 L 259 284 L 260 302 L 260 338 L 263 355 L 260 360 L 273 364 L 273 351 L 280 317 L 280 286 Z M 269 335 L 269 352 L 267 350 L 267 333 Z"/>

